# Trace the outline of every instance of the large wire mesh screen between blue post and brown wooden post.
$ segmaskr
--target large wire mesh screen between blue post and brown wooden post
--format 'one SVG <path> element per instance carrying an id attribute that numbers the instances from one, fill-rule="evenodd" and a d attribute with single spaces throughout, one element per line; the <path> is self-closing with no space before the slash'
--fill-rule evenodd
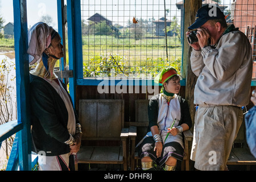
<path id="1" fill-rule="evenodd" d="M 181 67 L 180 0 L 81 1 L 84 77 L 154 78 Z"/>

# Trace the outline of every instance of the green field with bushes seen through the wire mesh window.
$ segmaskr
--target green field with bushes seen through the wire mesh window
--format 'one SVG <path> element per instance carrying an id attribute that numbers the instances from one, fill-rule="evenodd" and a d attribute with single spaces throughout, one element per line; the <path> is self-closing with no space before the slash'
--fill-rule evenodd
<path id="1" fill-rule="evenodd" d="M 181 67 L 181 43 L 176 37 L 117 39 L 113 36 L 83 36 L 82 55 L 84 77 L 97 77 L 101 73 L 110 76 L 110 71 L 125 73 L 150 73 L 154 77 L 163 67 Z M 114 58 L 113 58 L 113 57 Z M 122 71 L 121 71 L 122 70 Z"/>

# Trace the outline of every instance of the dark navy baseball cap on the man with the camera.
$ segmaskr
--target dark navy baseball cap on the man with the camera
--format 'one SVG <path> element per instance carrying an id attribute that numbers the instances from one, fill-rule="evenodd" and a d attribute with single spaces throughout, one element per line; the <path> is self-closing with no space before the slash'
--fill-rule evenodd
<path id="1" fill-rule="evenodd" d="M 189 30 L 201 27 L 210 19 L 225 19 L 224 13 L 214 4 L 209 4 L 200 7 L 196 13 L 196 20 L 191 26 L 188 27 Z"/>

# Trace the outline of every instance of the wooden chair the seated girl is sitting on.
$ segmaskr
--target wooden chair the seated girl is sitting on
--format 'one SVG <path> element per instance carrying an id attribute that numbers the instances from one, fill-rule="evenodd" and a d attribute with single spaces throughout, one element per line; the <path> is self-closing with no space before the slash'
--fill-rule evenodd
<path id="1" fill-rule="evenodd" d="M 148 107 L 149 100 L 136 100 L 135 101 L 135 118 L 136 122 L 130 122 L 129 130 L 129 138 L 131 140 L 131 170 L 135 169 L 135 161 L 139 160 L 138 151 L 135 150 L 135 144 L 137 144 L 147 133 L 148 127 L 148 114 L 147 114 L 147 107 Z M 189 170 L 189 141 L 192 141 L 193 134 L 191 130 L 187 130 L 183 132 L 184 135 L 184 149 L 185 155 L 183 161 L 185 162 L 185 170 Z"/>

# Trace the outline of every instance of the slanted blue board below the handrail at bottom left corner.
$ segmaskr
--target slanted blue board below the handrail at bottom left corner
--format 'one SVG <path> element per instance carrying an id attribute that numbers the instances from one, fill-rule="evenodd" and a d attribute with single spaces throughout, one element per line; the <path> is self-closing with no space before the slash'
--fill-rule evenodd
<path id="1" fill-rule="evenodd" d="M 18 169 L 18 135 L 15 136 L 13 147 L 11 148 L 10 158 L 7 163 L 6 171 L 16 171 Z"/>

